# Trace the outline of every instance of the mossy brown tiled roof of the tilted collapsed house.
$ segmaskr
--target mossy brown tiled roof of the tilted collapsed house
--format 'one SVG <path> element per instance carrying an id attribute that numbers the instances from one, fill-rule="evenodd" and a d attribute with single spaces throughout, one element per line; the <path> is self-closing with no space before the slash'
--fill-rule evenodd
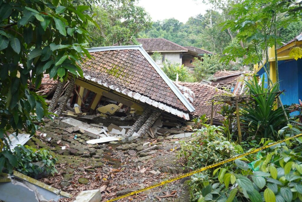
<path id="1" fill-rule="evenodd" d="M 114 85 L 120 92 L 142 94 L 181 111 L 194 110 L 172 81 L 160 75 L 162 70 L 150 63 L 151 58 L 146 58 L 149 55 L 145 51 L 143 54 L 140 46 L 101 47 L 88 51 L 93 58 L 83 64 L 85 77 L 90 76 L 107 86 Z"/>

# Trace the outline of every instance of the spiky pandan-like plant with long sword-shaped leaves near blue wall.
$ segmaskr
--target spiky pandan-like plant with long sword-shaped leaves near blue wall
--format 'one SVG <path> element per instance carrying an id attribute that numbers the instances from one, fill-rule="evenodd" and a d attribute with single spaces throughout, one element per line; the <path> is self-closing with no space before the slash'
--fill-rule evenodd
<path id="1" fill-rule="evenodd" d="M 246 128 L 249 136 L 267 137 L 277 139 L 278 129 L 284 126 L 286 120 L 281 108 L 276 108 L 276 93 L 279 84 L 265 88 L 264 78 L 259 85 L 256 77 L 253 81 L 246 82 L 251 97 L 255 100 L 252 104 L 241 105 L 241 124 Z"/>

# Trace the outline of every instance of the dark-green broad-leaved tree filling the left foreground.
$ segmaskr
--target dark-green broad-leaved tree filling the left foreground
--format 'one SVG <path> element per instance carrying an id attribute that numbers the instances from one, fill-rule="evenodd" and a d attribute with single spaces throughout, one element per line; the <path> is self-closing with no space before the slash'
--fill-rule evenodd
<path id="1" fill-rule="evenodd" d="M 93 23 L 84 13 L 88 8 L 71 0 L 0 1 L 0 172 L 18 165 L 7 132 L 34 135 L 34 122 L 48 116 L 43 97 L 29 85 L 39 88 L 43 73 L 61 81 L 67 71 L 82 76 L 79 64 L 90 57 L 85 49 L 88 22 Z"/>

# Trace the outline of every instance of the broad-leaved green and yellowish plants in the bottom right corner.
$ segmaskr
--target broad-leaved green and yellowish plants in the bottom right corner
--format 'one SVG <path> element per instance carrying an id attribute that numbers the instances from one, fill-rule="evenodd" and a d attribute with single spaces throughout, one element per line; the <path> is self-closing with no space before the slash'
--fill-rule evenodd
<path id="1" fill-rule="evenodd" d="M 217 168 L 213 176 L 208 176 L 215 180 L 199 190 L 198 202 L 301 201 L 302 156 L 299 142 L 302 142 L 302 137 L 263 151 L 260 155 L 263 157 L 256 161 L 246 158 L 245 161 L 254 161 L 252 167 L 245 161 L 235 160 L 233 167 Z"/>

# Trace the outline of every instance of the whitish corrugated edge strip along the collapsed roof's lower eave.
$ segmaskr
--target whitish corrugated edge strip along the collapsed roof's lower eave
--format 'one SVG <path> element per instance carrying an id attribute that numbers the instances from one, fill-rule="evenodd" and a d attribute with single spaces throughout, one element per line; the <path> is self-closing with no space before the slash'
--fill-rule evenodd
<path id="1" fill-rule="evenodd" d="M 102 86 L 105 86 L 108 88 L 108 85 L 106 83 L 102 83 L 101 81 L 97 81 L 96 78 L 92 78 L 91 76 L 85 76 L 85 79 L 87 80 L 90 80 L 90 81 L 93 81 L 93 82 L 96 82 L 97 84 L 99 85 L 102 85 Z M 146 103 L 146 104 L 149 104 L 149 105 L 152 105 L 153 107 L 156 107 L 156 108 L 159 108 L 163 111 L 166 111 L 168 113 L 171 113 L 171 114 L 174 114 L 178 117 L 181 117 L 181 118 L 184 118 L 186 120 L 190 120 L 189 118 L 189 114 L 188 113 L 185 113 L 183 111 L 180 111 L 178 109 L 175 109 L 175 108 L 172 108 L 171 106 L 168 106 L 164 103 L 161 103 L 161 102 L 157 102 L 155 100 L 152 100 L 150 99 L 149 97 L 146 97 L 140 93 L 137 93 L 137 92 L 133 92 L 133 91 L 129 91 L 128 89 L 124 89 L 123 91 L 120 91 L 119 88 L 115 88 L 114 85 L 111 85 L 109 86 L 110 89 L 112 89 L 113 91 L 116 91 L 116 92 L 119 92 L 119 93 L 122 93 L 130 98 L 133 98 L 133 99 L 136 99 L 140 102 L 143 102 L 143 103 Z"/>

